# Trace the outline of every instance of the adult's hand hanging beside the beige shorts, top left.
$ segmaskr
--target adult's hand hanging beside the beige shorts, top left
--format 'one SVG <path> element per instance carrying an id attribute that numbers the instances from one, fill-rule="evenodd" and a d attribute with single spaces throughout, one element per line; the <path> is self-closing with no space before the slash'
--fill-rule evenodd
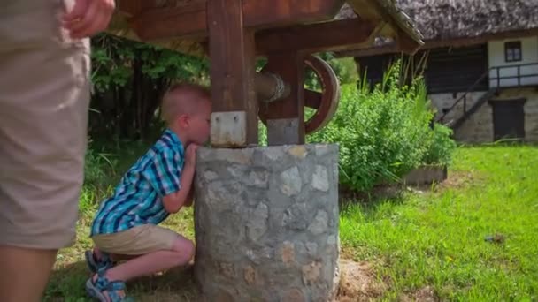
<path id="1" fill-rule="evenodd" d="M 115 7 L 114 0 L 75 0 L 63 18 L 64 26 L 73 39 L 92 36 L 106 29 Z"/>

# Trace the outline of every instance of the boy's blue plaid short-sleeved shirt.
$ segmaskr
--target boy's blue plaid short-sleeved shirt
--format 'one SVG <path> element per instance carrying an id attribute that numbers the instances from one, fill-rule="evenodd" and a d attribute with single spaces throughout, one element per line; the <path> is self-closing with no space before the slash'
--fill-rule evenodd
<path id="1" fill-rule="evenodd" d="M 183 164 L 183 144 L 174 132 L 167 129 L 122 177 L 113 196 L 102 202 L 90 236 L 164 221 L 169 213 L 162 198 L 181 189 Z"/>

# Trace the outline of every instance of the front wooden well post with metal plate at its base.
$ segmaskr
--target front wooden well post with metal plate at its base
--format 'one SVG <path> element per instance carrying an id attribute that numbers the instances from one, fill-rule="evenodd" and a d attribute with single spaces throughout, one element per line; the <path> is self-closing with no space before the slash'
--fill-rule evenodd
<path id="1" fill-rule="evenodd" d="M 208 0 L 211 145 L 257 144 L 254 33 L 243 26 L 242 0 Z"/>

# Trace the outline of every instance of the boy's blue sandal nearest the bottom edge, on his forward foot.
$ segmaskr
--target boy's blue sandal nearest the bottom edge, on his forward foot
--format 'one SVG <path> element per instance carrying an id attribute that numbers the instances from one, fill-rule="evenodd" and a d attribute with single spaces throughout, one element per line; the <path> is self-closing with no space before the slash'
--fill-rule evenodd
<path id="1" fill-rule="evenodd" d="M 94 276 L 89 277 L 86 281 L 86 291 L 88 295 L 98 299 L 100 302 L 131 302 L 134 301 L 131 297 L 122 298 L 119 291 L 126 289 L 123 281 L 110 281 L 104 276 L 105 269 L 100 269 L 97 273 L 97 279 L 94 281 Z M 104 294 L 106 293 L 106 295 Z M 107 297 L 108 296 L 108 297 Z"/>

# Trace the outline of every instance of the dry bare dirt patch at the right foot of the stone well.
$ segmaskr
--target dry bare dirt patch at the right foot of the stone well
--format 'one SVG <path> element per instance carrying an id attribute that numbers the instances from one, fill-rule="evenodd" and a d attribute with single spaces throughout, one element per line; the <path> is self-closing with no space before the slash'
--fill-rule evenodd
<path id="1" fill-rule="evenodd" d="M 371 301 L 382 296 L 386 285 L 379 282 L 366 262 L 340 260 L 340 288 L 336 301 Z"/>

